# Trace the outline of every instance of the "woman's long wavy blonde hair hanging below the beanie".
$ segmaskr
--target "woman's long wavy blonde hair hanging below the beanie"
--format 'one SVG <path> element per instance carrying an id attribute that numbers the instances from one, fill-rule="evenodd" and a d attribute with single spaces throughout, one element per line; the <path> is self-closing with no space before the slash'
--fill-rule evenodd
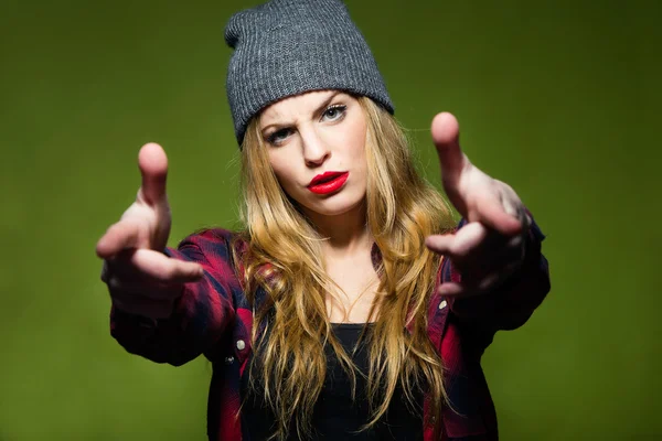
<path id="1" fill-rule="evenodd" d="M 372 333 L 361 337 L 367 335 L 370 347 L 371 418 L 365 430 L 385 415 L 398 387 L 415 411 L 421 411 L 414 399 L 417 388 L 428 392 L 430 416 L 439 415 L 447 402 L 444 366 L 427 333 L 427 306 L 440 258 L 424 240 L 451 230 L 455 223 L 448 203 L 417 173 L 395 118 L 370 98 L 357 99 L 367 118 L 366 223 L 382 254 L 377 295 L 370 311 L 375 324 Z M 333 348 L 349 374 L 353 395 L 356 375 L 363 374 L 334 337 L 328 316 L 325 299 L 337 295 L 339 287 L 324 270 L 324 238 L 278 183 L 257 117 L 242 146 L 242 169 L 246 229 L 237 235 L 244 246 L 234 249 L 255 312 L 252 337 L 260 363 L 250 372 L 259 373 L 260 394 L 276 417 L 271 438 L 285 439 L 291 428 L 306 438 L 324 384 L 324 345 Z M 259 288 L 266 294 L 258 302 Z M 255 381 L 250 384 L 255 387 Z M 440 430 L 438 420 L 425 423 Z"/>

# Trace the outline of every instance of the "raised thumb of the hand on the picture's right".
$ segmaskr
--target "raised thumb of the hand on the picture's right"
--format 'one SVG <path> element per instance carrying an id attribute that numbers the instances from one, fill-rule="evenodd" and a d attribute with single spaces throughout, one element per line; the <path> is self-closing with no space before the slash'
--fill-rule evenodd
<path id="1" fill-rule="evenodd" d="M 452 114 L 438 114 L 433 119 L 433 141 L 439 155 L 441 176 L 448 183 L 455 182 L 468 159 L 460 149 L 460 125 Z"/>

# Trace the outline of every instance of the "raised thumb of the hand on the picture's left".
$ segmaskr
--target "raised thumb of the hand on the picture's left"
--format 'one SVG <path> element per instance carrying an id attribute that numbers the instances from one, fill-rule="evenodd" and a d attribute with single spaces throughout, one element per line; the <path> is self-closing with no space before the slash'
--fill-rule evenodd
<path id="1" fill-rule="evenodd" d="M 142 175 L 140 194 L 148 205 L 156 205 L 166 197 L 166 176 L 168 175 L 168 157 L 163 148 L 150 142 L 138 153 L 138 168 Z"/>

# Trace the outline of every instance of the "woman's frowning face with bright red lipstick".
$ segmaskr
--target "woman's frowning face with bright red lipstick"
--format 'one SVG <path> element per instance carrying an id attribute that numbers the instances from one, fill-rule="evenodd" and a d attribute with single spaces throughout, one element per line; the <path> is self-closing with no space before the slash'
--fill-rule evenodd
<path id="1" fill-rule="evenodd" d="M 351 95 L 310 92 L 267 107 L 259 128 L 286 193 L 311 217 L 361 209 L 367 120 Z"/>

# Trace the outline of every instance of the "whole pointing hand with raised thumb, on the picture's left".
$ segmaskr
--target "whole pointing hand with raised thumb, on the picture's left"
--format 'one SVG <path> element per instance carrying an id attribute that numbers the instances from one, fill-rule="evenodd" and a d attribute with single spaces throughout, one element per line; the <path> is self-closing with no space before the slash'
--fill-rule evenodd
<path id="1" fill-rule="evenodd" d="M 161 146 L 145 144 L 138 154 L 142 185 L 136 202 L 111 225 L 96 246 L 104 259 L 102 280 L 113 304 L 152 319 L 168 318 L 183 284 L 199 280 L 199 263 L 163 254 L 170 235 L 170 205 L 166 195 L 168 158 Z"/>

